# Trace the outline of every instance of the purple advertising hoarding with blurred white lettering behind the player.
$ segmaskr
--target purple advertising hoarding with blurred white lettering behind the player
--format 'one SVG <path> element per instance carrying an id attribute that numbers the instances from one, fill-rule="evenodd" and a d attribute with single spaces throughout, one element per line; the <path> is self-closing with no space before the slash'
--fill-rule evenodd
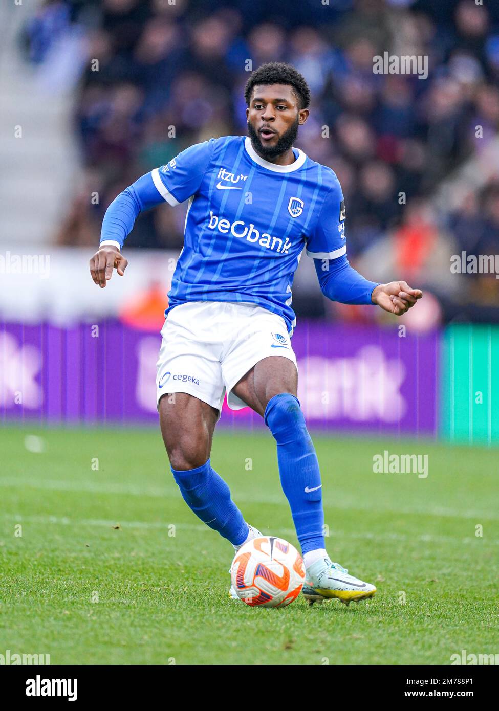
<path id="1" fill-rule="evenodd" d="M 438 333 L 300 321 L 292 343 L 298 398 L 312 427 L 434 436 Z M 159 333 L 112 321 L 58 328 L 0 327 L 4 422 L 157 422 Z M 262 426 L 224 402 L 220 424 Z"/>

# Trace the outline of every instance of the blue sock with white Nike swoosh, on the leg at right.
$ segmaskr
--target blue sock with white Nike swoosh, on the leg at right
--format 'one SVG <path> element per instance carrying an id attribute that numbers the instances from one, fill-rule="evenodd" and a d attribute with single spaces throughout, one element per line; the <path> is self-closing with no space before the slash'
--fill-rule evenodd
<path id="1" fill-rule="evenodd" d="M 302 553 L 325 548 L 319 462 L 300 402 L 288 392 L 274 395 L 263 419 L 277 442 L 280 483 L 291 507 Z"/>

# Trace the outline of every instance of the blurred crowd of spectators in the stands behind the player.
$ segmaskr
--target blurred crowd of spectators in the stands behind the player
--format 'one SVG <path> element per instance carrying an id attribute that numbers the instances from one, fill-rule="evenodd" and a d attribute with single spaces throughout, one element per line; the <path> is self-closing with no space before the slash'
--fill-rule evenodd
<path id="1" fill-rule="evenodd" d="M 285 60 L 312 91 L 297 145 L 340 179 L 351 263 L 429 289 L 446 321 L 499 320 L 494 274 L 451 273 L 451 255 L 498 251 L 499 4 L 47 0 L 25 31 L 31 61 L 74 26 L 86 38 L 75 89 L 85 172 L 58 242 L 95 245 L 107 205 L 142 173 L 245 134 L 248 71 Z M 427 57 L 428 77 L 374 73 L 385 51 Z M 466 166 L 478 169 L 460 178 Z M 181 208 L 152 210 L 127 245 L 179 250 L 183 221 Z"/>

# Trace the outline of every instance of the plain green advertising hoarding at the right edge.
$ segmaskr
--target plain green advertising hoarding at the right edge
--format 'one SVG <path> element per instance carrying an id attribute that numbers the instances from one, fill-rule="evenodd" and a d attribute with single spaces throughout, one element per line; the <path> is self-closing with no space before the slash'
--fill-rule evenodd
<path id="1" fill-rule="evenodd" d="M 499 327 L 458 324 L 443 333 L 441 434 L 499 444 Z"/>

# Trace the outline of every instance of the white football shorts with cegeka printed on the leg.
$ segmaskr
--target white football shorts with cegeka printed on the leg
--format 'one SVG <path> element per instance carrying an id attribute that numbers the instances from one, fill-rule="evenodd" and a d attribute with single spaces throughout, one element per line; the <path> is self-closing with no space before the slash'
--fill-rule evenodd
<path id="1" fill-rule="evenodd" d="M 157 362 L 157 407 L 166 392 L 188 392 L 221 412 L 247 407 L 231 388 L 268 355 L 295 363 L 282 316 L 256 304 L 189 301 L 167 314 Z M 220 415 L 219 415 L 220 417 Z"/>

